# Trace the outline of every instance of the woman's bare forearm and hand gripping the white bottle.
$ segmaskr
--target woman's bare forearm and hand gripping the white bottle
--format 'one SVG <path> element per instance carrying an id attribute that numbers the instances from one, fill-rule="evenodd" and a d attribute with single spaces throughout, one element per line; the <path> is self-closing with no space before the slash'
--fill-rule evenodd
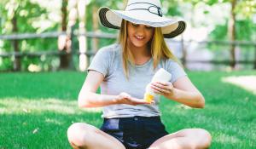
<path id="1" fill-rule="evenodd" d="M 181 77 L 175 83 L 151 83 L 154 92 L 164 95 L 167 99 L 175 100 L 186 106 L 203 108 L 205 99 L 201 92 L 191 83 L 189 77 Z"/>

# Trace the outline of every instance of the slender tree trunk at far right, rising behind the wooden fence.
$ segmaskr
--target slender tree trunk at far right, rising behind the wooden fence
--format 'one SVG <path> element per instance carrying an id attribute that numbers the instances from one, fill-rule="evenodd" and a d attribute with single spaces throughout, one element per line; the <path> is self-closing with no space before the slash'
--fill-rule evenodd
<path id="1" fill-rule="evenodd" d="M 234 43 L 236 41 L 236 1 L 231 1 L 231 12 L 230 12 L 230 20 L 229 20 L 229 38 L 230 42 Z M 231 44 L 230 46 L 230 67 L 235 69 L 236 67 L 236 45 Z"/>

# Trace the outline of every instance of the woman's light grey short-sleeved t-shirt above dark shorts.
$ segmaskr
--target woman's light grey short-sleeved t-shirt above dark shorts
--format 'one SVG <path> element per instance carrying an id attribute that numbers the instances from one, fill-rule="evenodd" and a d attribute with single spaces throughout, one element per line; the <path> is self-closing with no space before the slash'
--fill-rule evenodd
<path id="1" fill-rule="evenodd" d="M 117 43 L 100 49 L 93 58 L 88 71 L 94 70 L 104 76 L 101 84 L 102 95 L 119 95 L 125 92 L 138 99 L 143 99 L 145 88 L 150 83 L 154 73 L 164 68 L 172 74 L 171 82 L 177 78 L 186 76 L 183 68 L 173 60 L 160 60 L 160 64 L 154 70 L 153 60 L 150 59 L 143 65 L 131 66 L 129 64 L 129 79 L 127 80 L 122 66 L 121 46 Z M 155 103 L 150 105 L 111 105 L 103 107 L 102 117 L 154 117 L 160 116 L 160 95 L 154 98 Z"/>

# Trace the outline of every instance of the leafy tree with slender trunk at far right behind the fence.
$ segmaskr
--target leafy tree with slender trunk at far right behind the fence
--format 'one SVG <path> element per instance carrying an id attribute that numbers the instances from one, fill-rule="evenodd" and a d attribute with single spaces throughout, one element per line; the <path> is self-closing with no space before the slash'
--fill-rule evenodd
<path id="1" fill-rule="evenodd" d="M 241 20 L 250 24 L 252 20 L 252 15 L 256 13 L 256 3 L 254 0 L 183 0 L 185 3 L 192 3 L 196 5 L 197 3 L 206 3 L 209 6 L 219 4 L 219 3 L 229 3 L 230 4 L 230 15 L 228 18 L 228 23 L 223 26 L 216 26 L 212 33 L 217 33 L 215 39 L 227 38 L 231 43 L 236 40 L 252 40 L 253 32 L 255 33 L 255 27 L 250 26 L 245 28 L 245 23 L 240 23 Z M 237 15 L 239 15 L 240 20 L 237 20 Z M 243 27 L 241 27 L 243 26 Z M 225 29 L 227 28 L 227 29 Z M 242 30 L 241 30 L 242 28 Z M 246 35 L 245 35 L 246 34 Z M 214 36 L 213 36 L 214 37 Z M 236 67 L 236 46 L 235 44 L 230 45 L 230 67 Z"/>

